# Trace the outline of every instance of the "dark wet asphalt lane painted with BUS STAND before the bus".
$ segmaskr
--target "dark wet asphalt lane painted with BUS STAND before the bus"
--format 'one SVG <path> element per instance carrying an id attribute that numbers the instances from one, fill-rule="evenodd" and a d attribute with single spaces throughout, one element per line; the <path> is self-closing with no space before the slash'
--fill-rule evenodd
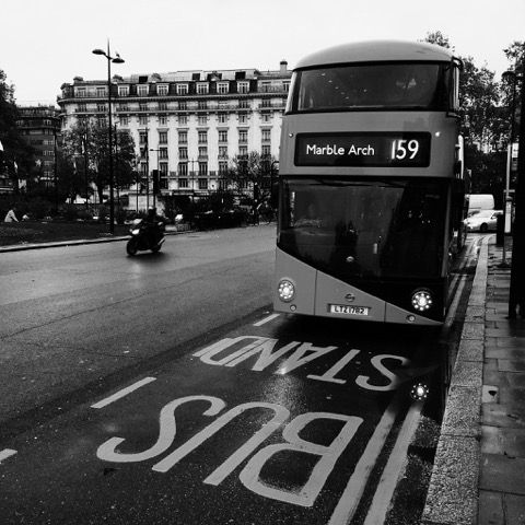
<path id="1" fill-rule="evenodd" d="M 364 523 L 410 387 L 435 369 L 430 339 L 255 319 L 5 444 L 0 511 L 7 523 Z"/>

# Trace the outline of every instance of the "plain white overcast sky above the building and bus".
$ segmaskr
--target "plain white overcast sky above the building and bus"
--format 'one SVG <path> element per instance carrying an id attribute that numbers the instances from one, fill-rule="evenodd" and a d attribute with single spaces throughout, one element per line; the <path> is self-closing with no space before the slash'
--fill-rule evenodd
<path id="1" fill-rule="evenodd" d="M 525 40 L 525 0 L 3 0 L 0 69 L 19 103 L 56 102 L 63 82 L 112 73 L 289 68 L 325 47 L 441 31 L 459 56 L 497 73 Z"/>

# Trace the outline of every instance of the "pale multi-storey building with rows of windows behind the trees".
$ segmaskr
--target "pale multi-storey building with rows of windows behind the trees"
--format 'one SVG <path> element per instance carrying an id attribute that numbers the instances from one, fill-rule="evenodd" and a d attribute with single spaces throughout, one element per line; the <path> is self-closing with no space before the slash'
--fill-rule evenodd
<path id="1" fill-rule="evenodd" d="M 177 71 L 112 79 L 112 115 L 135 139 L 138 170 L 168 195 L 207 195 L 236 155 L 278 159 L 291 71 Z M 62 130 L 82 119 L 106 122 L 107 80 L 80 77 L 61 86 Z M 148 152 L 145 155 L 144 152 Z M 133 190 L 133 189 L 131 189 Z"/>

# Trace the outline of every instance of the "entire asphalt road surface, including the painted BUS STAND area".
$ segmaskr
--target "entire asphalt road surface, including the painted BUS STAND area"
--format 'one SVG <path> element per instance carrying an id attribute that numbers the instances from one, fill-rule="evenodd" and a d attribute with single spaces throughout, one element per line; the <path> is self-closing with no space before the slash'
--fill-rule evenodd
<path id="1" fill-rule="evenodd" d="M 2 255 L 5 523 L 381 525 L 399 479 L 395 506 L 424 502 L 409 392 L 435 380 L 439 332 L 272 315 L 273 244 Z"/>

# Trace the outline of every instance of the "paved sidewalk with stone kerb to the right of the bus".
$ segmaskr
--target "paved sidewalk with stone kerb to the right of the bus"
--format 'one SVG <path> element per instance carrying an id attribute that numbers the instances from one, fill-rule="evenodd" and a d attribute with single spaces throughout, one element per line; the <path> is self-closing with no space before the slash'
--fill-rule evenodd
<path id="1" fill-rule="evenodd" d="M 495 236 L 485 237 L 424 525 L 525 525 L 525 319 L 508 318 L 511 272 L 502 261 Z"/>

